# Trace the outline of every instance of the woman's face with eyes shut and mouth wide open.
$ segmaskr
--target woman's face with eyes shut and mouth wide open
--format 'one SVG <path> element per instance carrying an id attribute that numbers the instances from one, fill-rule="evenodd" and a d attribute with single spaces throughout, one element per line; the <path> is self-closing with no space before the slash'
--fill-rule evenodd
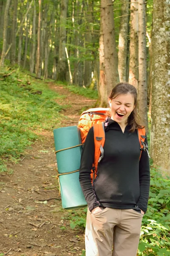
<path id="1" fill-rule="evenodd" d="M 119 94 L 114 99 L 109 99 L 111 119 L 117 123 L 126 124 L 127 118 L 133 111 L 135 99 L 132 94 Z"/>

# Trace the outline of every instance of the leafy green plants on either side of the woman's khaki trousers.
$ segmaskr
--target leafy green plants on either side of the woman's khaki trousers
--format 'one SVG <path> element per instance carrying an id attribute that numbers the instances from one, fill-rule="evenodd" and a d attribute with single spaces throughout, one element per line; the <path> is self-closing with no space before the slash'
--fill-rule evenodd
<path id="1" fill-rule="evenodd" d="M 85 229 L 86 209 L 68 212 L 71 228 Z M 142 219 L 138 256 L 170 256 L 170 180 L 151 168 L 150 197 Z"/>

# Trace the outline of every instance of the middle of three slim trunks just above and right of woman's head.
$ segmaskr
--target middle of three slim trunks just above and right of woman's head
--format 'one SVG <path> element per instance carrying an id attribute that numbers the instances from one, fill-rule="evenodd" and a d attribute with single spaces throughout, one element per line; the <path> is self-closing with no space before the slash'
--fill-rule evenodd
<path id="1" fill-rule="evenodd" d="M 138 0 L 130 3 L 129 83 L 138 89 Z"/>

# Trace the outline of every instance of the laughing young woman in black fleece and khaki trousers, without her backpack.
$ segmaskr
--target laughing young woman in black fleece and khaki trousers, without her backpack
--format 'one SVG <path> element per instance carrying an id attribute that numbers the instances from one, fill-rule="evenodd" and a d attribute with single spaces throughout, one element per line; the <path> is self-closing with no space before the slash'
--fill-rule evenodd
<path id="1" fill-rule="evenodd" d="M 142 126 L 137 121 L 136 88 L 126 82 L 117 84 L 109 104 L 104 157 L 93 186 L 93 127 L 82 151 L 79 181 L 88 203 L 86 256 L 136 256 L 150 187 L 149 158 L 147 151 L 141 154 L 137 134 Z"/>

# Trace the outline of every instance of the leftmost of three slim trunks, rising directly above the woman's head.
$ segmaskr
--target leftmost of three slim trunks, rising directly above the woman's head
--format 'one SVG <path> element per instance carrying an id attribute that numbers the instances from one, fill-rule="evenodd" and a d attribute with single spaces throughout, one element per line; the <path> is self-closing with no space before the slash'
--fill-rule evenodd
<path id="1" fill-rule="evenodd" d="M 121 0 L 121 3 L 122 17 L 120 20 L 119 31 L 118 71 L 120 81 L 126 81 L 129 0 Z"/>

